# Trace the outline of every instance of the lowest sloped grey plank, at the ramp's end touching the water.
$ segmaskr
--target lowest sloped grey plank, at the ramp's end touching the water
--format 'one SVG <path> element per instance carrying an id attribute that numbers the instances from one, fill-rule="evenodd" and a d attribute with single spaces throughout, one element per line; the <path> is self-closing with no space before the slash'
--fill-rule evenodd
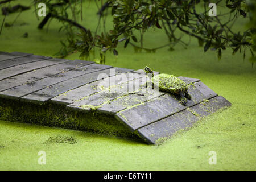
<path id="1" fill-rule="evenodd" d="M 138 134 L 148 143 L 158 144 L 162 140 L 170 138 L 177 131 L 192 127 L 193 123 L 199 119 L 230 105 L 230 102 L 222 96 L 213 97 L 209 101 L 201 102 L 180 113 L 144 126 L 138 129 Z"/>

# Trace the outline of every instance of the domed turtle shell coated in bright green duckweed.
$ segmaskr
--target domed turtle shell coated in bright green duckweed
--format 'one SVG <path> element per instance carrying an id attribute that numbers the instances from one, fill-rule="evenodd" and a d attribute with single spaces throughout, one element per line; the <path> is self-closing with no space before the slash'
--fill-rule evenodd
<path id="1" fill-rule="evenodd" d="M 187 84 L 174 75 L 161 73 L 151 78 L 151 81 L 159 86 L 159 90 L 168 93 L 179 93 L 188 90 Z"/>

